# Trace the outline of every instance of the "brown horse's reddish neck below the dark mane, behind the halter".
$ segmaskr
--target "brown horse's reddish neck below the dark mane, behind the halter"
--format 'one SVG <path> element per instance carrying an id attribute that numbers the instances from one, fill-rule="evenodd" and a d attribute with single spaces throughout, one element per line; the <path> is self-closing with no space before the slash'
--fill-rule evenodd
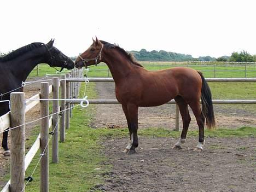
<path id="1" fill-rule="evenodd" d="M 104 51 L 102 55 L 102 61 L 107 64 L 115 83 L 127 77 L 134 68 L 130 63 L 131 61 L 126 59 L 124 55 L 118 53 L 117 50 Z"/>

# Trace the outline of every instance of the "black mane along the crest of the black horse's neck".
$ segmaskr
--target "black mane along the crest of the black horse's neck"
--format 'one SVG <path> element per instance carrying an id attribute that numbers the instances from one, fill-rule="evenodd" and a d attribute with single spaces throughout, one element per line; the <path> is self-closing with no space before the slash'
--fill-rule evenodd
<path id="1" fill-rule="evenodd" d="M 22 46 L 21 48 L 16 49 L 3 57 L 0 57 L 0 61 L 10 61 L 22 54 L 27 53 L 28 51 L 31 51 L 35 48 L 39 48 L 40 46 L 42 46 L 42 44 L 43 43 L 31 43 L 31 44 Z"/>

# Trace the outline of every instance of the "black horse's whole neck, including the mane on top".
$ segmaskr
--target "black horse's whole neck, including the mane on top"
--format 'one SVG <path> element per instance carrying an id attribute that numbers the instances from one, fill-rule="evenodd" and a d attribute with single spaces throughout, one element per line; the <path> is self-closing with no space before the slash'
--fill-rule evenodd
<path id="1" fill-rule="evenodd" d="M 7 61 L 1 61 L 2 65 L 9 69 L 11 74 L 20 82 L 25 82 L 30 72 L 38 63 L 49 63 L 48 50 L 42 46 L 28 51 L 25 54 L 20 54 Z"/>

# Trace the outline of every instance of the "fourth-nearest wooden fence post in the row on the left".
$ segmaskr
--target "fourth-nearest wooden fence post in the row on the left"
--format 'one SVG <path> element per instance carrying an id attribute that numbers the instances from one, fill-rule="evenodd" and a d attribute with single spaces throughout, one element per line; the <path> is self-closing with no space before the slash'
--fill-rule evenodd
<path id="1" fill-rule="evenodd" d="M 66 98 L 66 75 L 63 74 L 61 75 L 61 99 Z M 66 116 L 66 111 L 65 111 L 65 103 L 66 101 L 61 101 L 61 118 L 60 118 L 60 141 L 65 142 L 65 116 Z"/>

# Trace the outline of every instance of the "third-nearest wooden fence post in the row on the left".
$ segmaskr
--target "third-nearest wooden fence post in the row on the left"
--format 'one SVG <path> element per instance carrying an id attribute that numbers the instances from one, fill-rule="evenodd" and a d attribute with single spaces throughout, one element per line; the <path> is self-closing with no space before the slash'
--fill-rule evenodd
<path id="1" fill-rule="evenodd" d="M 59 84 L 60 80 L 57 77 L 53 78 L 53 98 L 59 99 Z M 53 101 L 53 114 L 59 112 L 59 101 Z M 52 161 L 59 162 L 59 114 L 53 115 L 53 152 Z"/>

